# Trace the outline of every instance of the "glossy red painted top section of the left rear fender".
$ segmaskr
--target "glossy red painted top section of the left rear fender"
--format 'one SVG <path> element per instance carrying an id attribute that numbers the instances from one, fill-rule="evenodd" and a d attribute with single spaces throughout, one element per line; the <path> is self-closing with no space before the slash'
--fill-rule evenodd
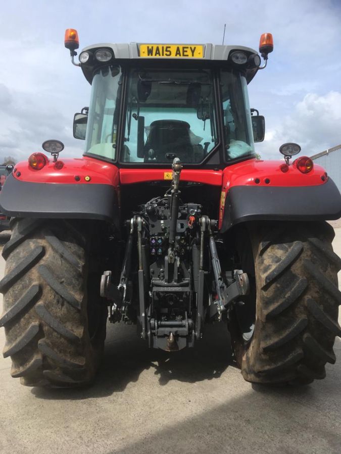
<path id="1" fill-rule="evenodd" d="M 34 183 L 66 183 L 66 184 L 104 184 L 118 186 L 120 183 L 119 170 L 116 165 L 108 162 L 92 159 L 88 157 L 63 159 L 63 168 L 60 170 L 54 167 L 53 159 L 48 159 L 48 164 L 41 170 L 34 170 L 28 165 L 28 161 L 16 164 L 16 172 L 13 176 L 21 181 Z M 20 177 L 17 173 L 20 172 Z M 79 181 L 75 177 L 80 177 Z M 84 177 L 90 177 L 90 181 L 85 181 Z"/>

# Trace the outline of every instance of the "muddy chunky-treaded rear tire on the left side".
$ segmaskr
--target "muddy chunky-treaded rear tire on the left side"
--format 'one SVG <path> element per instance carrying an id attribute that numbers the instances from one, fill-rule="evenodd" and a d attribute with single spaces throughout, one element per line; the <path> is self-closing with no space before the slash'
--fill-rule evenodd
<path id="1" fill-rule="evenodd" d="M 61 219 L 11 221 L 0 326 L 11 375 L 26 386 L 88 384 L 99 365 L 107 307 L 97 295 L 90 297 L 89 238 L 77 225 Z"/>

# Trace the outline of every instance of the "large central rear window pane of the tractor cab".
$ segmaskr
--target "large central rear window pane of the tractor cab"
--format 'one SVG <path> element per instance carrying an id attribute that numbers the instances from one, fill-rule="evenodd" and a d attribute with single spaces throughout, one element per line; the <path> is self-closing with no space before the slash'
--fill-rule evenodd
<path id="1" fill-rule="evenodd" d="M 123 162 L 199 163 L 218 143 L 209 70 L 132 70 Z"/>

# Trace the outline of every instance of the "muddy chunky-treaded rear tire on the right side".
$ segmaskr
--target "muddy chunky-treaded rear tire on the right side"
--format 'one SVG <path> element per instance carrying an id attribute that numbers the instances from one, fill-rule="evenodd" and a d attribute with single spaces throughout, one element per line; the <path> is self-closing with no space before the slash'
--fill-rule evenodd
<path id="1" fill-rule="evenodd" d="M 332 250 L 333 229 L 326 222 L 283 222 L 253 225 L 249 232 L 256 282 L 251 339 L 236 331 L 235 311 L 229 323 L 243 377 L 283 384 L 324 378 L 325 364 L 335 362 L 335 335 L 341 335 L 341 260 Z"/>

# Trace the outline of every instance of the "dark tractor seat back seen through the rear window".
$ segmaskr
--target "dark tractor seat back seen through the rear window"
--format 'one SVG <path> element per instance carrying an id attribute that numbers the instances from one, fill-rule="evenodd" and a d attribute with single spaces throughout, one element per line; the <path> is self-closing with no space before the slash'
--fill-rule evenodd
<path id="1" fill-rule="evenodd" d="M 156 120 L 151 123 L 144 145 L 144 162 L 193 162 L 194 150 L 190 143 L 189 124 L 180 120 Z"/>

